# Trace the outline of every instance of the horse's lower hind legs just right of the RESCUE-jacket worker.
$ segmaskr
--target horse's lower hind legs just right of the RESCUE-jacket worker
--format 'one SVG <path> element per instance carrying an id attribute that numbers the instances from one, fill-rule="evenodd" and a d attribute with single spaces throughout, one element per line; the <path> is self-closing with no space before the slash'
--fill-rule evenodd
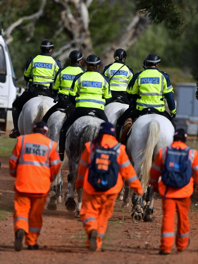
<path id="1" fill-rule="evenodd" d="M 60 170 L 55 180 L 51 183 L 50 186 L 50 200 L 47 205 L 48 210 L 56 210 L 57 202 L 61 203 L 62 183 L 63 183 L 63 174 L 62 174 L 62 170 Z"/>

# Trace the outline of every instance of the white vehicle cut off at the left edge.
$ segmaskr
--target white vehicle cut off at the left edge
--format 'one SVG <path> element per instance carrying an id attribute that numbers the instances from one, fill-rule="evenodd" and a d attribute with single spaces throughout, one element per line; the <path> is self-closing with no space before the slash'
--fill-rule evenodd
<path id="1" fill-rule="evenodd" d="M 2 27 L 0 33 L 0 130 L 2 131 L 12 129 L 12 103 L 16 95 L 16 78 Z"/>

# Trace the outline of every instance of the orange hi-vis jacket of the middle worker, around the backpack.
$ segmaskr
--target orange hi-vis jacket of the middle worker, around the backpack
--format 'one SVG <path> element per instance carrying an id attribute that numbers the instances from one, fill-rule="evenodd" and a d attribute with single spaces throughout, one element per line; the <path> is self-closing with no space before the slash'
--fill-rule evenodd
<path id="1" fill-rule="evenodd" d="M 101 146 L 108 146 L 109 148 L 114 147 L 118 141 L 114 136 L 104 134 L 101 140 Z M 89 166 L 90 166 L 90 142 L 85 143 L 85 150 L 81 155 L 80 165 L 78 167 L 78 177 L 76 180 L 76 189 L 84 187 L 88 194 L 98 195 L 98 194 L 116 194 L 120 192 L 123 186 L 123 178 L 127 181 L 131 188 L 134 189 L 138 194 L 142 194 L 143 189 L 139 179 L 136 176 L 136 172 L 127 157 L 125 146 L 120 145 L 119 154 L 117 157 L 117 162 L 119 164 L 118 180 L 114 187 L 108 189 L 105 192 L 97 192 L 94 187 L 88 181 Z"/>

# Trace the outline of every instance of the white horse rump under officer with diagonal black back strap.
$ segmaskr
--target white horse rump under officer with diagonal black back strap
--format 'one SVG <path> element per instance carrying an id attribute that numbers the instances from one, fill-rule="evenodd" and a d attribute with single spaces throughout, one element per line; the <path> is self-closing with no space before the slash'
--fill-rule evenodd
<path id="1" fill-rule="evenodd" d="M 104 107 L 104 113 L 106 114 L 108 121 L 115 126 L 118 117 L 120 117 L 127 108 L 129 108 L 128 104 L 113 102 Z"/>

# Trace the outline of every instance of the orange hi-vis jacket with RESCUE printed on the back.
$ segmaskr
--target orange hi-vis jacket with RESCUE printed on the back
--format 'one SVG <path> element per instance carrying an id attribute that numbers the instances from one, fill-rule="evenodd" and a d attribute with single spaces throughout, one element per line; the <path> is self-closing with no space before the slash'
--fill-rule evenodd
<path id="1" fill-rule="evenodd" d="M 61 161 L 57 143 L 41 133 L 19 136 L 9 159 L 10 174 L 18 192 L 45 194 L 54 181 Z"/>

